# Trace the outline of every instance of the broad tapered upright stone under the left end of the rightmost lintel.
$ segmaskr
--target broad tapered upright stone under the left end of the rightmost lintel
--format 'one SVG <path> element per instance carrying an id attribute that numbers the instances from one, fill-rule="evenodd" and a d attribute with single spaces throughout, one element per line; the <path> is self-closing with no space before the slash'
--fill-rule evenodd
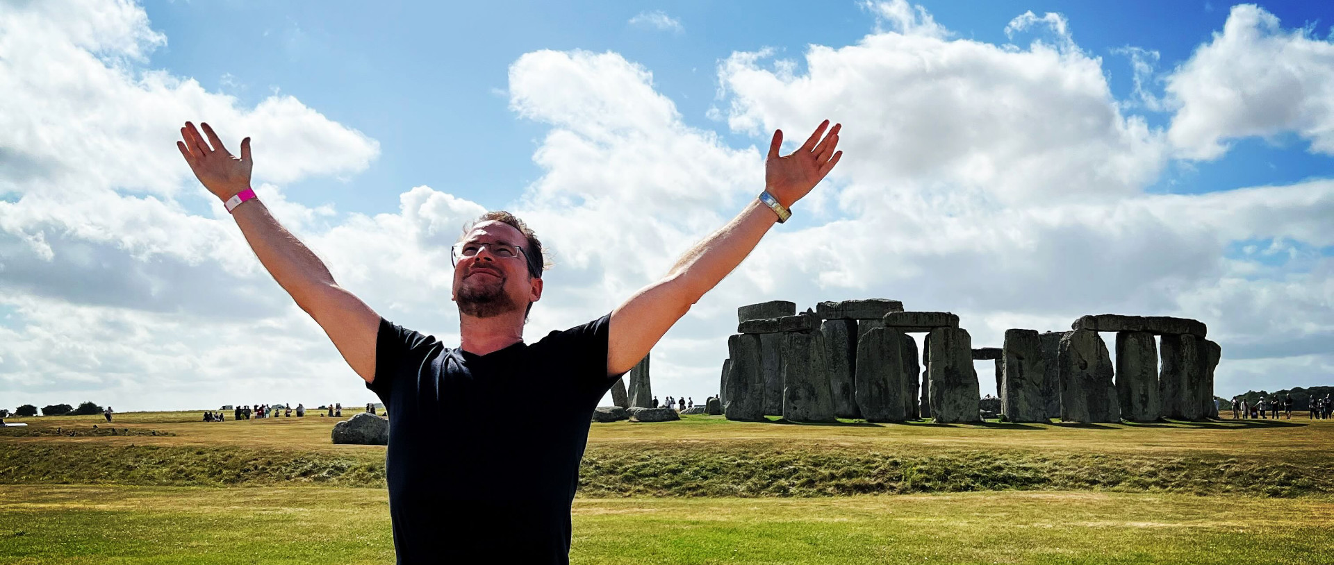
<path id="1" fill-rule="evenodd" d="M 1121 401 L 1111 381 L 1111 354 L 1098 332 L 1077 329 L 1061 338 L 1061 420 L 1119 422 Z"/>

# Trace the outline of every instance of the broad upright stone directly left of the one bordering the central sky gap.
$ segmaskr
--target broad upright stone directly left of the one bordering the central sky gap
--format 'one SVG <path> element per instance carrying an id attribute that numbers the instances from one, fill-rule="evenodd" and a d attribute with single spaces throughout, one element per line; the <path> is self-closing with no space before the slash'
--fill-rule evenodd
<path id="1" fill-rule="evenodd" d="M 904 357 L 916 365 L 916 346 L 910 350 L 903 340 L 912 338 L 891 328 L 875 328 L 856 342 L 856 405 L 871 422 L 908 420 L 910 388 Z M 915 373 L 915 368 L 914 368 Z"/>

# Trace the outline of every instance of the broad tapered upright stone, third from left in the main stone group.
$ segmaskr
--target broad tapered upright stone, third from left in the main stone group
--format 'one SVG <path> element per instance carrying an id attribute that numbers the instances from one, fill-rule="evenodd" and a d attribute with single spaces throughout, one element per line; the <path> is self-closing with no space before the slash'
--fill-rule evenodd
<path id="1" fill-rule="evenodd" d="M 819 332 L 783 334 L 783 418 L 796 422 L 834 421 L 834 398 Z"/>

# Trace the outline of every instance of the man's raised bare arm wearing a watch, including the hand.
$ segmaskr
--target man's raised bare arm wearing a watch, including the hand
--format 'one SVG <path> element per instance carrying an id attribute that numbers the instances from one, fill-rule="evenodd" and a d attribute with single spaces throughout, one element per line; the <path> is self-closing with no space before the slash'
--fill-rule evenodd
<path id="1" fill-rule="evenodd" d="M 838 164 L 835 152 L 842 124 L 828 135 L 828 120 L 792 155 L 778 155 L 783 132 L 775 131 L 764 161 L 764 188 L 779 204 L 791 208 Z M 823 137 L 823 139 L 822 139 Z M 731 273 L 759 244 L 778 216 L 758 199 L 732 221 L 686 252 L 662 280 L 644 286 L 611 312 L 607 374 L 620 374 L 648 354 L 654 344 L 680 320 L 706 292 Z"/>

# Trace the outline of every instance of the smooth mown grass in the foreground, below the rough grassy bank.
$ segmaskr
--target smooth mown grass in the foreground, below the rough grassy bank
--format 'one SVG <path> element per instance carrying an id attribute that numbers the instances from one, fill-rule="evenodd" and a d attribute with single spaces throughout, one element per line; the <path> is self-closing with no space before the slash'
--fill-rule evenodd
<path id="1" fill-rule="evenodd" d="M 0 486 L 5 564 L 392 562 L 386 494 Z M 442 516 L 442 528 L 467 516 Z M 1334 500 L 1007 492 L 576 500 L 578 564 L 1326 564 Z"/>

